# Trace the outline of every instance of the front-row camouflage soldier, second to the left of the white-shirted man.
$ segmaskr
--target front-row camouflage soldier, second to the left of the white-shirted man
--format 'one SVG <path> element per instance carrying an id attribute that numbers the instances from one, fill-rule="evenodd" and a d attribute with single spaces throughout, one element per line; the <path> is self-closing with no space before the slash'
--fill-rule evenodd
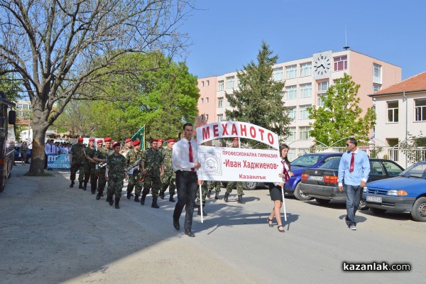
<path id="1" fill-rule="evenodd" d="M 163 155 L 158 151 L 158 141 L 151 141 L 151 148 L 146 149 L 142 158 L 141 173 L 145 175 L 141 204 L 145 204 L 145 197 L 152 187 L 153 203 L 151 207 L 160 208 L 157 204 L 158 191 L 161 188 L 161 179 L 164 178 Z"/>

